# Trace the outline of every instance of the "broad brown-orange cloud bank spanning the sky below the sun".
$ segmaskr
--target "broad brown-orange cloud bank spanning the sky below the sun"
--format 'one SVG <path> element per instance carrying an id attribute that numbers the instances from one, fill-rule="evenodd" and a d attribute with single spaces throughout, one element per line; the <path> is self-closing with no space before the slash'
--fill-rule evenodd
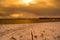
<path id="1" fill-rule="evenodd" d="M 1 2 L 0 4 L 1 17 L 6 17 L 6 16 L 10 17 L 10 15 L 12 14 L 24 14 L 25 16 L 32 14 L 32 17 L 34 15 L 35 15 L 34 17 L 60 16 L 60 0 L 48 0 L 44 2 L 37 1 L 38 3 L 30 4 L 30 6 L 15 5 L 14 1 L 12 1 L 13 4 L 10 1 L 5 1 L 5 2 L 10 2 L 8 4 L 3 3 L 4 0 L 0 0 L 0 2 Z M 31 17 L 31 15 L 27 17 Z"/>

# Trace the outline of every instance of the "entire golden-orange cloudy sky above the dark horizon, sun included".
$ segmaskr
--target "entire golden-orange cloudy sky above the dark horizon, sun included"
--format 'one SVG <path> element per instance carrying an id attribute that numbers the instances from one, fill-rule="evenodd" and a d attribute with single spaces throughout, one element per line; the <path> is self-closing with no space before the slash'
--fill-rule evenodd
<path id="1" fill-rule="evenodd" d="M 60 0 L 0 0 L 0 18 L 60 18 Z"/>

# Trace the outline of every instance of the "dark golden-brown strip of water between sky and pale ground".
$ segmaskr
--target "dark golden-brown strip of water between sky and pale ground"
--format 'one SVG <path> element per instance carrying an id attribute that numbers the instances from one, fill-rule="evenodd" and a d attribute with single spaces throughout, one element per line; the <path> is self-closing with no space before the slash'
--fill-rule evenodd
<path id="1" fill-rule="evenodd" d="M 40 19 L 0 19 L 0 24 L 24 24 L 24 23 L 42 23 L 59 22 L 59 18 L 40 18 Z"/>

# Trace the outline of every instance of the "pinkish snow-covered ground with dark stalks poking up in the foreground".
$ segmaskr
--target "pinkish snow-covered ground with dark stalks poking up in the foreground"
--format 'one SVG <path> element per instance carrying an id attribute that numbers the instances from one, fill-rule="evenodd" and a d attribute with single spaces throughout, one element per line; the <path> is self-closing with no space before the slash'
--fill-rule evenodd
<path id="1" fill-rule="evenodd" d="M 60 40 L 60 22 L 0 24 L 0 40 Z"/>

